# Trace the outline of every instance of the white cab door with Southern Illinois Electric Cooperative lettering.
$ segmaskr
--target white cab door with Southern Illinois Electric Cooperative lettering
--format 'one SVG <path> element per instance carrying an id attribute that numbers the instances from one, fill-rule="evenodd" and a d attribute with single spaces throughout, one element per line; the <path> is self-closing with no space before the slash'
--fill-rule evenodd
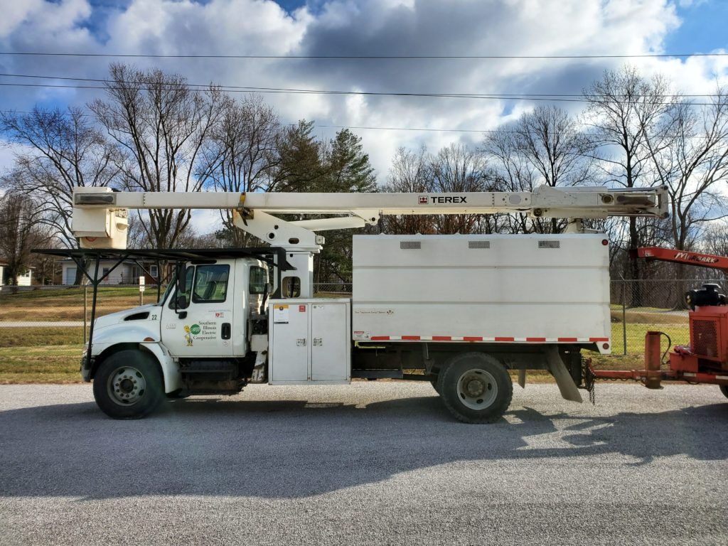
<path id="1" fill-rule="evenodd" d="M 162 342 L 173 357 L 233 355 L 234 267 L 222 260 L 187 267 L 184 293 L 173 290 L 162 313 Z"/>

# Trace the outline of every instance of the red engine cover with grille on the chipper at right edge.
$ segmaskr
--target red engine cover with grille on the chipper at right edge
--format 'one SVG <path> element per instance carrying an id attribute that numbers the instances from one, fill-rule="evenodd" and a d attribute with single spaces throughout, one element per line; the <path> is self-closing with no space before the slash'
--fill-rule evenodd
<path id="1" fill-rule="evenodd" d="M 689 313 L 692 354 L 728 369 L 728 306 L 703 306 Z"/>

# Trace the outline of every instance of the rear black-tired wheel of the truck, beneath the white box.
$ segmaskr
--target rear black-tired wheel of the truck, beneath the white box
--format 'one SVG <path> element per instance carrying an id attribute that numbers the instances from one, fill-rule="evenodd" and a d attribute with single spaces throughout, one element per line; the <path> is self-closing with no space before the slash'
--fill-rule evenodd
<path id="1" fill-rule="evenodd" d="M 443 403 L 464 423 L 496 422 L 513 397 L 513 381 L 505 366 L 480 352 L 452 357 L 439 379 Z"/>

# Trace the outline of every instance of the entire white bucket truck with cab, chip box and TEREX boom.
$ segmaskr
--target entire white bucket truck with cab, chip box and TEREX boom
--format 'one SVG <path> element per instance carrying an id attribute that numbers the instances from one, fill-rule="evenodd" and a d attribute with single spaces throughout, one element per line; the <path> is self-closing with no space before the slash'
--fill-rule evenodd
<path id="1" fill-rule="evenodd" d="M 126 248 L 131 208 L 229 208 L 268 246 Z M 116 419 L 146 416 L 165 397 L 234 395 L 250 383 L 430 381 L 456 419 L 499 419 L 526 371 L 553 374 L 581 402 L 582 352 L 609 353 L 609 241 L 582 220 L 664 218 L 665 188 L 601 187 L 464 194 L 74 192 L 93 286 L 81 373 Z M 380 215 L 526 213 L 568 218 L 563 234 L 355 235 L 351 298 L 316 298 L 313 256 L 327 229 Z M 274 214 L 317 215 L 284 221 Z M 321 217 L 326 215 L 326 217 Z M 156 263 L 172 280 L 155 304 L 95 317 L 101 261 Z M 89 265 L 90 264 L 90 265 Z M 165 268 L 165 264 L 167 264 Z M 107 272 L 108 274 L 108 272 Z M 162 285 L 161 279 L 157 286 Z"/>

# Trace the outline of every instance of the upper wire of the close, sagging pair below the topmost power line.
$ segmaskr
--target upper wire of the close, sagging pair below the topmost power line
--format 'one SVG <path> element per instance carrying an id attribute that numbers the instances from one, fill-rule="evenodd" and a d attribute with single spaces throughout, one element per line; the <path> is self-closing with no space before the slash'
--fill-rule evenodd
<path id="1" fill-rule="evenodd" d="M 68 80 L 71 82 L 96 82 L 96 83 L 103 83 L 103 84 L 124 84 L 124 85 L 138 85 L 140 82 L 125 82 L 125 81 L 116 81 L 111 79 L 98 79 L 98 78 L 78 78 L 78 77 L 72 77 L 72 76 L 44 76 L 44 75 L 38 75 L 38 74 L 2 74 L 0 73 L 0 76 L 4 76 L 7 78 L 33 78 L 33 79 L 63 79 Z M 171 87 L 173 89 L 175 88 L 183 88 L 183 87 L 199 87 L 202 89 L 209 89 L 211 86 L 210 84 L 190 84 L 190 83 L 173 83 L 173 82 L 155 82 L 156 85 L 161 85 L 163 87 Z M 325 92 L 325 93 L 335 93 L 335 94 L 344 94 L 344 93 L 350 93 L 348 91 L 326 91 L 326 90 L 297 90 L 297 89 L 289 89 L 285 87 L 250 87 L 250 86 L 241 86 L 241 85 L 223 85 L 223 84 L 213 84 L 212 87 L 221 89 L 221 90 L 244 90 L 245 92 L 249 91 L 258 91 L 258 90 L 264 90 L 264 91 L 277 91 L 277 92 Z M 95 89 L 95 87 L 94 87 Z M 104 87 L 106 89 L 106 87 Z M 353 93 L 353 92 L 352 92 Z M 364 91 L 356 92 L 356 93 L 367 93 Z M 418 96 L 445 96 L 445 97 L 457 97 L 457 98 L 584 98 L 584 97 L 592 97 L 592 98 L 600 98 L 602 95 L 594 95 L 591 93 L 579 93 L 579 94 L 569 94 L 569 93 L 374 93 L 371 92 L 371 94 L 386 94 L 386 95 L 418 95 Z M 618 97 L 626 97 L 627 95 L 617 95 Z M 657 95 L 630 95 L 632 98 L 657 98 Z M 719 97 L 721 95 L 717 95 L 715 93 L 708 93 L 708 94 L 673 94 L 673 95 L 660 95 L 661 98 L 715 98 Z"/>

